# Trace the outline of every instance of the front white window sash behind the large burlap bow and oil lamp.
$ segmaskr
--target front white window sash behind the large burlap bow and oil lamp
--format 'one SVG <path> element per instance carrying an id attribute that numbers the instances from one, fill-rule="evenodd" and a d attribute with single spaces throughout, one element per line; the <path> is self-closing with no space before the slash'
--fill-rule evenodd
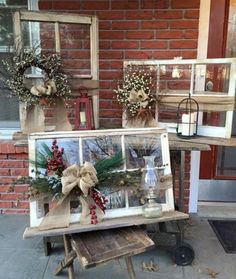
<path id="1" fill-rule="evenodd" d="M 83 163 L 82 154 L 82 141 L 91 139 L 91 137 L 104 137 L 104 136 L 116 136 L 119 138 L 123 157 L 125 155 L 125 139 L 127 136 L 157 136 L 160 137 L 162 164 L 164 165 L 164 175 L 171 174 L 170 167 L 170 155 L 168 145 L 168 134 L 165 129 L 161 128 L 141 128 L 141 129 L 114 129 L 114 130 L 95 130 L 95 131 L 77 131 L 77 132 L 49 132 L 49 133 L 37 133 L 29 136 L 29 159 L 30 162 L 35 161 L 37 153 L 37 141 L 39 140 L 51 140 L 51 139 L 65 139 L 65 140 L 77 140 L 79 161 Z M 60 146 L 61 147 L 61 146 Z M 35 169 L 35 165 L 29 164 L 29 174 L 32 176 L 32 169 Z M 126 170 L 126 164 L 124 163 L 123 169 Z M 42 200 L 30 201 L 30 226 L 38 226 L 45 215 L 44 203 L 48 202 L 48 197 Z M 174 210 L 174 199 L 172 187 L 165 190 L 165 203 L 162 204 L 163 211 Z M 116 218 L 122 216 L 139 215 L 142 213 L 142 206 L 130 207 L 128 201 L 128 191 L 125 190 L 125 207 L 116 209 L 107 209 L 105 218 Z M 79 213 L 72 213 L 70 222 L 78 222 Z"/>

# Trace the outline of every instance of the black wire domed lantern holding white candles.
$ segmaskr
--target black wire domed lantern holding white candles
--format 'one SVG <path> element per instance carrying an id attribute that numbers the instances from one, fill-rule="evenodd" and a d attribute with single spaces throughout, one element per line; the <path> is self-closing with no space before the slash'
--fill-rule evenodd
<path id="1" fill-rule="evenodd" d="M 197 135 L 199 105 L 191 98 L 183 99 L 177 110 L 177 136 L 181 138 L 193 138 Z"/>

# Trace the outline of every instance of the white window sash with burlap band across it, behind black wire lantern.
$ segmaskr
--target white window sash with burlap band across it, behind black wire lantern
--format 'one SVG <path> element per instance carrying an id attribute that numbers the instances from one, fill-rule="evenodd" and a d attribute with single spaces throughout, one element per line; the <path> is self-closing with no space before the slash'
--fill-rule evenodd
<path id="1" fill-rule="evenodd" d="M 200 76 L 194 78 L 195 67 L 198 66 L 199 70 L 203 72 L 206 70 L 207 65 L 222 64 L 229 66 L 229 80 L 228 91 L 223 92 L 207 92 L 204 91 L 206 78 Z M 160 103 L 172 108 L 176 108 L 178 103 L 190 93 L 191 97 L 199 102 L 200 111 L 211 112 L 226 112 L 225 125 L 210 126 L 202 125 L 199 123 L 198 134 L 202 136 L 212 137 L 231 137 L 233 111 L 235 107 L 235 87 L 236 87 L 236 58 L 217 58 L 217 59 L 172 59 L 172 60 L 125 60 L 123 63 L 124 72 L 128 66 L 146 66 L 156 67 L 157 69 L 157 82 L 156 82 L 156 95 L 160 97 Z M 160 72 L 161 67 L 165 66 L 188 66 L 190 67 L 191 78 L 188 90 L 167 90 L 165 92 L 160 89 Z M 197 90 L 195 90 L 195 88 Z M 202 113 L 200 113 L 200 121 Z M 156 114 L 158 120 L 158 113 Z M 167 127 L 168 132 L 176 132 L 176 123 L 158 122 L 159 126 Z"/>

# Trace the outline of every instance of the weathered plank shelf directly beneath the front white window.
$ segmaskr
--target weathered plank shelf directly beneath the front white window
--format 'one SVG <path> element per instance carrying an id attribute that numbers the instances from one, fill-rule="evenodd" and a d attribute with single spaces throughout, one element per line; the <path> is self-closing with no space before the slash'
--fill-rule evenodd
<path id="1" fill-rule="evenodd" d="M 98 223 L 97 225 L 80 225 L 78 223 L 75 223 L 75 224 L 70 224 L 68 228 L 53 229 L 47 231 L 40 231 L 38 227 L 28 227 L 26 228 L 23 237 L 31 238 L 34 236 L 56 236 L 62 234 L 73 234 L 73 233 L 80 233 L 86 231 L 138 226 L 143 224 L 154 224 L 158 222 L 187 219 L 188 217 L 189 215 L 183 212 L 169 211 L 169 212 L 163 212 L 162 217 L 153 218 L 153 219 L 147 219 L 141 215 L 138 215 L 138 216 L 106 219 L 103 220 L 101 223 Z"/>

